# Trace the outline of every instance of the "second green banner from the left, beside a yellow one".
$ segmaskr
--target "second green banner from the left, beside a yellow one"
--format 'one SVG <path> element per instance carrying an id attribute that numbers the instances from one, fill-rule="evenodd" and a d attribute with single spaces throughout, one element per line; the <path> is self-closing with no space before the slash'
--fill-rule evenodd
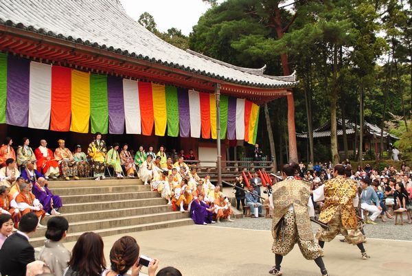
<path id="1" fill-rule="evenodd" d="M 106 134 L 108 130 L 107 76 L 90 75 L 91 132 Z"/>

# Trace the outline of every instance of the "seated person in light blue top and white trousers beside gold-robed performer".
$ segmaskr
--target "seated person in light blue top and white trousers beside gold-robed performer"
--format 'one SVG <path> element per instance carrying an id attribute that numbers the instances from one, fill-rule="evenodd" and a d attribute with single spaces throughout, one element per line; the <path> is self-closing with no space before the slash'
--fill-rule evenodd
<path id="1" fill-rule="evenodd" d="M 382 207 L 380 207 L 380 200 L 376 195 L 374 188 L 372 188 L 371 181 L 368 178 L 361 179 L 362 184 L 362 194 L 361 194 L 361 208 L 363 210 L 369 211 L 371 216 L 366 223 L 370 225 L 376 225 L 376 218 L 378 218 Z"/>

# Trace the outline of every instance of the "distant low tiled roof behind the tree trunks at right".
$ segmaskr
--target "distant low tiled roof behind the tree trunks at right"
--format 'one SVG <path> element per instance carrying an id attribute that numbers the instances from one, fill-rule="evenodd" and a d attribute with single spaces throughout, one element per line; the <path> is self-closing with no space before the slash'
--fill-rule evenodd
<path id="1" fill-rule="evenodd" d="M 338 129 L 337 129 L 337 134 L 338 136 L 343 135 L 343 130 L 342 130 L 342 120 L 338 119 Z M 355 128 L 359 131 L 360 126 L 355 125 L 354 123 L 349 122 L 346 120 L 346 134 L 351 135 L 355 133 Z M 365 122 L 365 131 L 369 133 L 369 135 L 376 135 L 376 137 L 380 137 L 380 128 L 374 124 L 369 124 L 368 122 Z M 396 137 L 395 135 L 391 135 L 387 131 L 383 130 L 383 137 L 391 137 L 393 139 L 398 140 L 399 138 Z M 299 138 L 308 138 L 308 133 L 296 133 L 296 136 Z M 313 138 L 321 138 L 321 137 L 330 137 L 330 121 L 327 122 L 326 124 L 323 124 L 323 126 L 320 126 L 319 128 L 313 130 Z"/>

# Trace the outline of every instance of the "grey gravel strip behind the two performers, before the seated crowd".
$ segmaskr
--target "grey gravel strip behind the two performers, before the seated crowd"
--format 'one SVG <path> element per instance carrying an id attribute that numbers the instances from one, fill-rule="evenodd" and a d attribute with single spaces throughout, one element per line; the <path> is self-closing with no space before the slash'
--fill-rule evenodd
<path id="1" fill-rule="evenodd" d="M 404 215 L 404 225 L 395 225 L 393 220 L 387 219 L 387 222 L 382 222 L 380 218 L 376 219 L 377 225 L 365 225 L 365 233 L 367 238 L 380 238 L 385 240 L 412 240 L 412 225 L 407 222 Z M 242 229 L 255 229 L 270 231 L 272 220 L 270 218 L 237 218 L 235 222 L 222 221 L 216 223 L 220 227 L 233 227 Z M 312 222 L 314 233 L 319 228 Z"/>

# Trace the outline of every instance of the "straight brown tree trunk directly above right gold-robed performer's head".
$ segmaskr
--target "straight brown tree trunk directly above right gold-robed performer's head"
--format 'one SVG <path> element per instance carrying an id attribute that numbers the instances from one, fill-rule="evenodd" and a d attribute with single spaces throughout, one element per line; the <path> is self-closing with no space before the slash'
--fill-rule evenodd
<path id="1" fill-rule="evenodd" d="M 333 51 L 333 84 L 332 84 L 332 95 L 330 95 L 330 150 L 332 152 L 332 162 L 334 165 L 339 163 L 339 152 L 338 152 L 338 135 L 336 126 L 336 102 L 337 102 L 337 60 L 338 50 L 336 45 L 334 45 Z"/>

